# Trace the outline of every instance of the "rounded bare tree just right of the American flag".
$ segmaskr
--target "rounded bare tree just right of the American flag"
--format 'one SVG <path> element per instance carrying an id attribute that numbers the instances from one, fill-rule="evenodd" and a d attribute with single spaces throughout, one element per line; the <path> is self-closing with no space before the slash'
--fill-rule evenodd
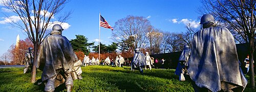
<path id="1" fill-rule="evenodd" d="M 123 41 L 132 41 L 132 49 L 145 48 L 145 33 L 150 26 L 150 21 L 148 21 L 145 17 L 130 15 L 119 19 L 117 22 L 115 22 L 114 30 L 112 32 L 112 36 L 118 39 L 113 40 L 117 41 L 118 43 Z"/>

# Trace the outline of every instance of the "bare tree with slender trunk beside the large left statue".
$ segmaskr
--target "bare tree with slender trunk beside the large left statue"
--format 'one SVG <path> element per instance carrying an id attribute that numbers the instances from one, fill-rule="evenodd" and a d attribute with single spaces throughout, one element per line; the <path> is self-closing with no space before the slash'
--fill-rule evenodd
<path id="1" fill-rule="evenodd" d="M 2 2 L 3 5 L 17 15 L 20 21 L 15 21 L 12 17 L 6 16 L 10 23 L 24 30 L 27 36 L 34 44 L 34 53 L 37 53 L 38 47 L 42 40 L 47 36 L 47 29 L 53 23 L 52 18 L 59 14 L 67 3 L 66 0 L 7 0 Z M 69 13 L 59 17 L 60 22 L 65 21 Z M 34 54 L 36 61 L 37 54 Z M 36 66 L 33 63 L 31 82 L 35 82 Z"/>

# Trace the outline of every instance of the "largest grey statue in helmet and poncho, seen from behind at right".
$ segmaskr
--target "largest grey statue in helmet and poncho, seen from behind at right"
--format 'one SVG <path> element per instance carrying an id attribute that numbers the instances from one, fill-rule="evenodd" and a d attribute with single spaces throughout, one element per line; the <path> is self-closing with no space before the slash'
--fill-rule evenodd
<path id="1" fill-rule="evenodd" d="M 197 86 L 211 91 L 239 87 L 242 91 L 247 80 L 240 71 L 233 36 L 227 28 L 215 27 L 210 14 L 202 16 L 201 24 L 203 29 L 195 33 L 191 46 L 187 70 L 190 78 Z"/>

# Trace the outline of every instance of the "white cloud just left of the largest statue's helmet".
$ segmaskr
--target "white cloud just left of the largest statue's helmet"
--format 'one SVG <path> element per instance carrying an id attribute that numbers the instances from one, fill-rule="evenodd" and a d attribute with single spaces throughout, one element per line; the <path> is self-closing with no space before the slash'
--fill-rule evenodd
<path id="1" fill-rule="evenodd" d="M 197 28 L 200 26 L 200 22 L 196 22 L 196 20 L 192 20 L 192 19 L 181 19 L 180 21 L 178 21 L 178 19 L 169 19 L 169 21 L 172 21 L 173 23 L 183 23 L 185 25 L 190 24 L 191 27 L 193 28 Z"/>

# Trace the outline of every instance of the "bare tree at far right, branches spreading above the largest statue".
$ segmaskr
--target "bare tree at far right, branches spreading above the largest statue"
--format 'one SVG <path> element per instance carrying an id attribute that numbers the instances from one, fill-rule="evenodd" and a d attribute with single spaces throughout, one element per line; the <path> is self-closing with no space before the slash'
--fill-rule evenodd
<path id="1" fill-rule="evenodd" d="M 255 88 L 254 70 L 253 70 L 253 53 L 256 48 L 255 42 L 255 0 L 202 0 L 200 13 L 211 13 L 216 19 L 228 28 L 240 35 L 240 42 L 245 41 L 249 48 L 250 56 L 250 85 Z M 235 36 L 236 37 L 236 36 Z M 242 41 L 241 41 L 242 40 Z"/>

